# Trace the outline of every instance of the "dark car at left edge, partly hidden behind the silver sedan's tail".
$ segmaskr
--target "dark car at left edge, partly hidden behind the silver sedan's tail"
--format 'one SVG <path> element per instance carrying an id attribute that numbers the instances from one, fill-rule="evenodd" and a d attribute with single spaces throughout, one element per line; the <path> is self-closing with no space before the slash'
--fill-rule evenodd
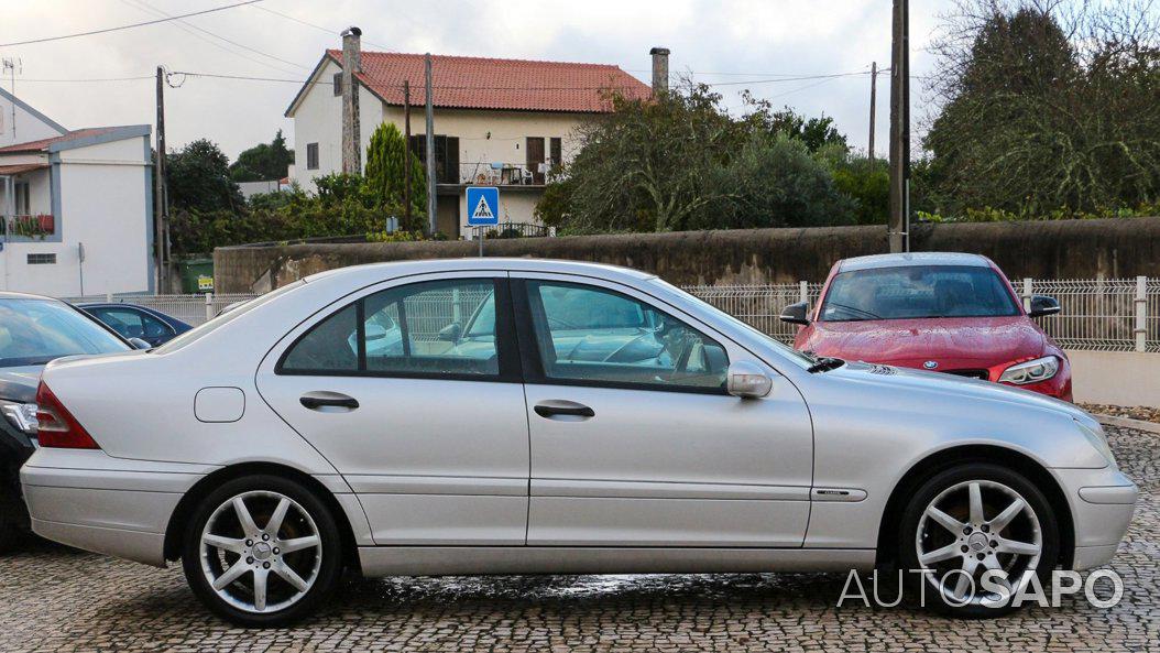
<path id="1" fill-rule="evenodd" d="M 63 356 L 144 347 L 58 299 L 0 292 L 0 551 L 28 530 L 20 466 L 36 448 L 41 370 Z"/>

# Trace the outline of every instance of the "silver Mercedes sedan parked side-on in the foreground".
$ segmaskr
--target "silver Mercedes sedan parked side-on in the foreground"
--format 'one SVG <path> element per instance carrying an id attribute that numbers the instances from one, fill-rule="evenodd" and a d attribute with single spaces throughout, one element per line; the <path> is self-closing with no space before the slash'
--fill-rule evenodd
<path id="1" fill-rule="evenodd" d="M 256 626 L 316 611 L 346 567 L 892 565 L 937 609 L 998 615 L 1032 576 L 1107 563 L 1137 496 L 1070 404 L 800 354 L 577 262 L 322 273 L 148 351 L 53 362 L 37 404 L 36 532 L 181 560 Z"/>

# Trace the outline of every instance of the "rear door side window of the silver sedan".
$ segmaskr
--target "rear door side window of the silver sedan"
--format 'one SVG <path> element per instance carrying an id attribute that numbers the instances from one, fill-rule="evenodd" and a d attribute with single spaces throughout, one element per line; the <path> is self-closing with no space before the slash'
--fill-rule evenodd
<path id="1" fill-rule="evenodd" d="M 287 351 L 278 371 L 494 377 L 500 373 L 494 302 L 492 280 L 383 290 L 314 326 Z"/>

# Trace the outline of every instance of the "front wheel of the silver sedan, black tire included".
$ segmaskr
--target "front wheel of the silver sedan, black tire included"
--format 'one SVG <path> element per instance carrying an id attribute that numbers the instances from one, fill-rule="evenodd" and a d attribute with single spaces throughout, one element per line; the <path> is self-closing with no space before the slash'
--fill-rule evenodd
<path id="1" fill-rule="evenodd" d="M 911 588 L 926 607 L 955 617 L 1018 609 L 1013 596 L 1029 588 L 1031 575 L 1050 587 L 1044 581 L 1059 559 L 1051 502 L 1025 476 L 992 463 L 962 464 L 927 479 L 913 492 L 900 527 L 899 560 Z M 983 579 L 988 569 L 1013 582 L 988 592 Z"/>

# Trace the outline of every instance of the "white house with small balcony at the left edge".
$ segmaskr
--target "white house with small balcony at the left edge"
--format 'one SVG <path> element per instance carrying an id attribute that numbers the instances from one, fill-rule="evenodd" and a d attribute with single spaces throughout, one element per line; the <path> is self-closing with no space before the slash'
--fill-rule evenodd
<path id="1" fill-rule="evenodd" d="M 3 89 L 0 108 L 0 289 L 153 290 L 150 125 L 67 130 Z"/>

